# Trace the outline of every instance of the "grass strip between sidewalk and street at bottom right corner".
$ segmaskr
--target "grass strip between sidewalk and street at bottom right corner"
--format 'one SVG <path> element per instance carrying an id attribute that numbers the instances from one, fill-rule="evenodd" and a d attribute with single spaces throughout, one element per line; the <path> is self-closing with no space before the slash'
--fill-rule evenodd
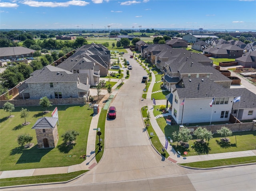
<path id="1" fill-rule="evenodd" d="M 249 156 L 249 157 L 218 159 L 218 160 L 209 160 L 209 161 L 198 161 L 198 162 L 192 162 L 192 163 L 182 163 L 180 165 L 196 167 L 196 168 L 210 168 L 210 167 L 238 165 L 238 164 L 255 163 L 255 162 L 256 162 L 256 156 Z"/>

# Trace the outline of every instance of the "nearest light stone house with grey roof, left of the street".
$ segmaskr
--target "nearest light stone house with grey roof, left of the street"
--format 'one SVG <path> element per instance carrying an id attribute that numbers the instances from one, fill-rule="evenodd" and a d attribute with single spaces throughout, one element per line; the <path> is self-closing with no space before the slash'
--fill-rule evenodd
<path id="1" fill-rule="evenodd" d="M 64 69 L 47 65 L 34 71 L 22 86 L 19 87 L 20 97 L 40 99 L 44 96 L 52 98 L 79 98 L 89 96 L 90 84 L 87 74 L 72 73 Z M 83 83 L 82 83 L 83 82 Z"/>

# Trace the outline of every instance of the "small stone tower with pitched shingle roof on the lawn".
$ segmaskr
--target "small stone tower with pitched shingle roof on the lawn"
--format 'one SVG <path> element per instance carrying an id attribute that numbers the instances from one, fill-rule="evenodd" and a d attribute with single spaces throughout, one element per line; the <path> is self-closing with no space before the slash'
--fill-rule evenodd
<path id="1" fill-rule="evenodd" d="M 57 129 L 58 118 L 43 117 L 39 118 L 32 129 L 36 130 L 38 148 L 56 147 L 59 136 Z"/>

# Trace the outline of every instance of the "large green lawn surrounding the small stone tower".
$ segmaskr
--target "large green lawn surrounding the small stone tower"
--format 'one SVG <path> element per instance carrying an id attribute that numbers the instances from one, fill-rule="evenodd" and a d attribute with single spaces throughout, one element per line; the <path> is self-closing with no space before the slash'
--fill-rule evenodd
<path id="1" fill-rule="evenodd" d="M 13 118 L 7 118 L 9 113 L 1 113 L 0 127 L 0 170 L 17 170 L 17 169 L 32 169 L 45 167 L 69 166 L 82 162 L 79 157 L 86 154 L 86 144 L 90 122 L 92 120 L 93 109 L 88 108 L 88 105 L 63 105 L 58 106 L 58 135 L 59 140 L 56 148 L 38 149 L 35 130 L 31 129 L 38 118 L 51 116 L 51 112 L 55 106 L 48 110 L 48 114 L 42 113 L 41 106 L 24 107 L 30 110 L 27 122 L 31 124 L 22 126 L 24 118 L 20 118 L 21 107 L 16 107 L 11 114 Z M 86 116 L 86 117 L 85 117 Z M 67 148 L 63 144 L 61 135 L 67 130 L 76 130 L 79 136 L 75 141 L 73 148 Z M 16 141 L 19 134 L 28 133 L 33 136 L 32 148 L 24 149 L 18 146 Z M 49 162 L 50 161 L 50 162 Z"/>

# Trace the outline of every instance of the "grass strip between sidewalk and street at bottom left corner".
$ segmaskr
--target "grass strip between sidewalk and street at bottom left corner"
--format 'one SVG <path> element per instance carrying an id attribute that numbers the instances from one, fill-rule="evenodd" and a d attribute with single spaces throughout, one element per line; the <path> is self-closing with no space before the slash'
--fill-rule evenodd
<path id="1" fill-rule="evenodd" d="M 88 170 L 81 170 L 81 171 L 64 173 L 64 174 L 4 178 L 4 179 L 1 179 L 0 186 L 4 187 L 4 186 L 14 186 L 14 185 L 24 185 L 24 184 L 39 184 L 39 183 L 68 181 L 68 180 L 73 179 L 87 171 Z"/>

